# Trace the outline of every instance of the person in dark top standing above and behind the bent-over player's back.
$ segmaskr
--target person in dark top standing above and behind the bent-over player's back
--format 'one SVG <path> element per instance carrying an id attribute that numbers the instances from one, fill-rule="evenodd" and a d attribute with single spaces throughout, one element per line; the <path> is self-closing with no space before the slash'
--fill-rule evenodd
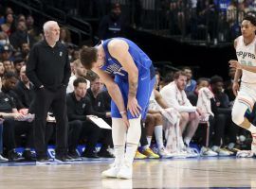
<path id="1" fill-rule="evenodd" d="M 101 19 L 98 35 L 101 40 L 125 36 L 125 23 L 119 3 L 113 4 L 110 13 Z"/>

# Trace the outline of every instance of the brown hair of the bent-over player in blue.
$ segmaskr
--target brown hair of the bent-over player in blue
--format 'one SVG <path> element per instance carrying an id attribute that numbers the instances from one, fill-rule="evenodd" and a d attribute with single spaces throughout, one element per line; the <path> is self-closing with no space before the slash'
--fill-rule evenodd
<path id="1" fill-rule="evenodd" d="M 80 60 L 82 65 L 87 69 L 92 69 L 92 63 L 97 61 L 97 48 L 82 46 L 80 51 Z"/>

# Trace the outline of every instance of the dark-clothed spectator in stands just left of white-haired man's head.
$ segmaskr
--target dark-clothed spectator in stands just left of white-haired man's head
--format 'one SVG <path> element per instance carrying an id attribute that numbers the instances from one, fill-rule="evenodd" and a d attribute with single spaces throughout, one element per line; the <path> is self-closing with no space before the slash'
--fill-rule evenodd
<path id="1" fill-rule="evenodd" d="M 9 36 L 9 43 L 16 50 L 21 50 L 23 43 L 28 43 L 31 47 L 35 43 L 35 39 L 27 32 L 27 26 L 25 21 L 18 21 L 17 29 Z"/>

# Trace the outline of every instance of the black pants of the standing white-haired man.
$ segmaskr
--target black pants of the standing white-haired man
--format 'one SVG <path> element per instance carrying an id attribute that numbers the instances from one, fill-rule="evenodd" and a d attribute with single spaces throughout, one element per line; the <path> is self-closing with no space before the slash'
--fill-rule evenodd
<path id="1" fill-rule="evenodd" d="M 66 116 L 65 88 L 50 91 L 46 88 L 35 91 L 32 107 L 35 112 L 34 145 L 37 157 L 46 157 L 46 115 L 49 108 L 56 118 L 56 148 L 58 156 L 67 153 L 67 116 Z"/>

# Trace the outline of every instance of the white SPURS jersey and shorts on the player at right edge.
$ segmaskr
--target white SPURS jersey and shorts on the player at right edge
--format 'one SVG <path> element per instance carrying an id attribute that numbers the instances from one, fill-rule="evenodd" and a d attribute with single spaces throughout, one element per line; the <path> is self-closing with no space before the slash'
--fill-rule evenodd
<path id="1" fill-rule="evenodd" d="M 246 45 L 244 43 L 244 37 L 238 37 L 236 56 L 239 63 L 256 66 L 256 38 Z M 256 102 L 256 73 L 242 70 L 241 86 L 236 100 L 246 104 L 249 111 L 252 111 L 253 105 Z"/>

